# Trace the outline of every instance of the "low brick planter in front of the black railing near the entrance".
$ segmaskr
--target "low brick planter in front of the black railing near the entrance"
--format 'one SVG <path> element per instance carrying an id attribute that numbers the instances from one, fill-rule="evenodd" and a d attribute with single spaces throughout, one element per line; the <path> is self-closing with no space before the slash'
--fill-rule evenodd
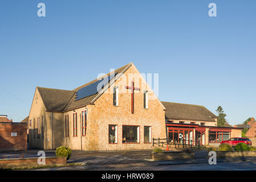
<path id="1" fill-rule="evenodd" d="M 152 152 L 153 160 L 176 160 L 176 159 L 194 159 L 194 151 L 163 151 Z"/>

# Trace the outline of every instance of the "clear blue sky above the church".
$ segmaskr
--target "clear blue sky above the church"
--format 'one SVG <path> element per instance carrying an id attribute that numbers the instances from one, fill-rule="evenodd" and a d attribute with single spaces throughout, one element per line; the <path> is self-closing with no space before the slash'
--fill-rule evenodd
<path id="1" fill-rule="evenodd" d="M 46 17 L 37 16 L 38 3 Z M 208 16 L 216 3 L 217 17 Z M 161 101 L 255 116 L 255 1 L 1 1 L 0 114 L 19 122 L 35 87 L 74 89 L 135 63 Z"/>

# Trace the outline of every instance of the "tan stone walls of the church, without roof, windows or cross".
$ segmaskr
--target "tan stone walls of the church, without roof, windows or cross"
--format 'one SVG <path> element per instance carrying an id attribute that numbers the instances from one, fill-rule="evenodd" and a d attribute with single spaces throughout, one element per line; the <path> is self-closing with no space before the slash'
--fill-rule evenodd
<path id="1" fill-rule="evenodd" d="M 131 90 L 126 89 L 126 86 L 131 86 L 131 81 L 135 83 L 136 88 L 140 89 L 135 90 L 133 114 L 131 112 Z M 118 106 L 113 105 L 114 86 L 120 89 Z M 148 92 L 147 108 L 144 108 L 144 91 Z M 51 99 L 54 100 L 52 97 Z M 153 138 L 166 138 L 168 136 L 166 108 L 133 64 L 112 85 L 109 85 L 105 92 L 94 98 L 89 104 L 82 103 L 83 105 L 66 111 L 47 110 L 44 104 L 43 98 L 38 88 L 36 88 L 29 114 L 29 123 L 31 123 L 29 127 L 30 148 L 54 149 L 64 145 L 72 150 L 85 151 L 151 149 Z M 202 109 L 201 106 L 200 108 Z M 86 136 L 82 136 L 82 112 L 85 110 L 87 111 L 87 129 Z M 73 115 L 75 113 L 78 121 L 77 136 L 73 136 Z M 69 118 L 69 137 L 66 137 L 65 134 L 66 115 Z M 209 115 L 207 117 L 209 118 Z M 40 119 L 39 125 L 37 118 Z M 217 127 L 217 119 L 214 118 L 210 118 L 209 122 L 200 119 L 174 119 L 173 122 L 175 124 L 179 121 L 184 121 L 185 123 L 193 121 L 196 122 L 194 123 L 195 125 L 205 123 L 205 133 L 201 137 L 202 140 L 204 139 L 205 144 L 209 143 L 209 127 Z M 115 134 L 116 142 L 114 143 L 109 143 L 109 131 L 111 131 L 109 125 L 115 125 L 115 132 L 117 130 Z M 132 129 L 129 129 L 129 131 L 123 130 L 127 125 L 136 126 L 136 131 L 129 137 L 123 135 L 125 132 L 133 133 Z M 146 128 L 150 130 L 150 132 L 147 132 L 150 133 L 150 137 L 144 136 L 144 129 Z M 234 132 L 234 135 L 239 135 L 239 132 L 241 133 L 241 130 Z M 135 133 L 137 136 L 135 136 Z M 127 138 L 136 138 L 136 142 L 127 143 Z M 145 138 L 151 139 L 148 142 Z M 192 138 L 196 139 L 196 129 L 193 129 Z"/>

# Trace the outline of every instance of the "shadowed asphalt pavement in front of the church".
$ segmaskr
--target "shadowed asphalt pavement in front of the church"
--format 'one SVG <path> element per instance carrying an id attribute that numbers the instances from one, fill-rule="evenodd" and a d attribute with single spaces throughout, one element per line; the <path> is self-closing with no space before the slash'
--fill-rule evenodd
<path id="1" fill-rule="evenodd" d="M 38 157 L 39 150 L 28 150 L 25 152 L 0 153 L 8 158 L 23 154 L 25 157 Z M 55 156 L 55 151 L 44 150 L 46 156 Z M 56 168 L 42 168 L 33 170 L 43 171 L 66 171 L 66 170 L 256 170 L 256 157 L 218 159 L 217 165 L 210 165 L 206 158 L 207 151 L 195 152 L 194 159 L 152 161 L 152 150 L 140 151 L 72 151 L 71 158 L 67 163 L 82 163 L 81 166 L 67 166 Z"/>

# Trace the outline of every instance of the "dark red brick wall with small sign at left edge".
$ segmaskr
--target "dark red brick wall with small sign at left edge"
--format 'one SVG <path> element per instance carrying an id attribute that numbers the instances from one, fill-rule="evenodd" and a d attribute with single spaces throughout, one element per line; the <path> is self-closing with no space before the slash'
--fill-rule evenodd
<path id="1" fill-rule="evenodd" d="M 0 122 L 0 151 L 14 150 L 27 150 L 27 123 Z"/>

